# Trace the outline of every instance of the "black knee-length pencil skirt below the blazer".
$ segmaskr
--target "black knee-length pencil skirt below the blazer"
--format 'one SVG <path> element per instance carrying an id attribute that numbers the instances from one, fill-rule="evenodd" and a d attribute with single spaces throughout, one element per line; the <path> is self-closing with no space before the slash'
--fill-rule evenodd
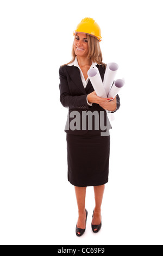
<path id="1" fill-rule="evenodd" d="M 99 186 L 108 182 L 110 136 L 67 133 L 68 181 L 74 186 Z"/>

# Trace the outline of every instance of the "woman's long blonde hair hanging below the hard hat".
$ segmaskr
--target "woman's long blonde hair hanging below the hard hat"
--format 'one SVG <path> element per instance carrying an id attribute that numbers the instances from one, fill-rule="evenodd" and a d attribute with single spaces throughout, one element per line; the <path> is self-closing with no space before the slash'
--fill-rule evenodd
<path id="1" fill-rule="evenodd" d="M 101 48 L 99 45 L 99 40 L 97 38 L 95 38 L 95 36 L 87 34 L 87 43 L 88 43 L 88 48 L 89 48 L 87 58 L 91 59 L 92 62 L 96 62 L 99 65 L 102 64 L 102 65 L 106 66 L 106 64 L 104 64 L 102 62 L 103 57 L 102 57 L 102 51 L 101 51 Z M 72 45 L 72 60 L 62 66 L 65 66 L 65 65 L 68 65 L 68 64 L 74 62 L 75 58 L 76 58 L 76 54 L 74 52 L 74 47 Z"/>

